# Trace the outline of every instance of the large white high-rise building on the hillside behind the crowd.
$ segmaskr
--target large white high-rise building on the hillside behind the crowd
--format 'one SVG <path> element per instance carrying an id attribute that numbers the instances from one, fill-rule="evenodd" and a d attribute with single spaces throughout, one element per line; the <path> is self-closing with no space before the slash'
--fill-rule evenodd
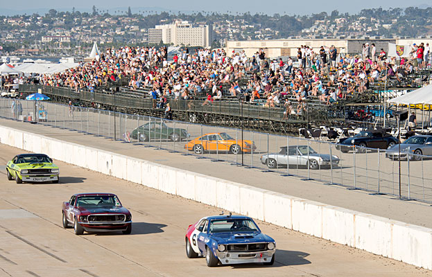
<path id="1" fill-rule="evenodd" d="M 148 29 L 150 44 L 173 44 L 174 46 L 211 46 L 212 26 L 192 26 L 188 21 L 175 21 L 174 24 L 156 25 Z"/>

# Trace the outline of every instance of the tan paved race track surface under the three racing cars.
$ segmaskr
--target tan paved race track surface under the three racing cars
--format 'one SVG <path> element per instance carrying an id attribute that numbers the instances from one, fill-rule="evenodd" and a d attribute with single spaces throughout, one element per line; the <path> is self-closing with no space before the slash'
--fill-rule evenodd
<path id="1" fill-rule="evenodd" d="M 21 150 L 0 145 L 0 163 Z M 258 222 L 275 238 L 275 265 L 209 268 L 188 259 L 184 232 L 211 206 L 67 163 L 60 184 L 15 184 L 0 168 L 0 276 L 430 276 L 430 271 Z M 61 204 L 74 193 L 110 192 L 132 212 L 132 234 L 74 235 Z"/>

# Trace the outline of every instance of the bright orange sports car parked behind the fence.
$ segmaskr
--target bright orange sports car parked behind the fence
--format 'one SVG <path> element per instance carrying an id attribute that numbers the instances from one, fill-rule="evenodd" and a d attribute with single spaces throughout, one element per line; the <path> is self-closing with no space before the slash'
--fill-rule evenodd
<path id="1" fill-rule="evenodd" d="M 203 151 L 230 151 L 232 154 L 243 152 L 252 152 L 257 149 L 253 141 L 233 139 L 227 133 L 210 133 L 188 141 L 184 148 L 201 154 Z"/>

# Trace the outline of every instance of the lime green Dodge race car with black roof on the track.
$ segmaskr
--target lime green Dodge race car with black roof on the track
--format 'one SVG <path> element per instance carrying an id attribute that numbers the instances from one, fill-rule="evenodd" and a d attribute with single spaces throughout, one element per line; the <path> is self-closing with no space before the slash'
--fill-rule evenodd
<path id="1" fill-rule="evenodd" d="M 60 171 L 46 154 L 19 154 L 6 165 L 8 180 L 58 183 Z"/>

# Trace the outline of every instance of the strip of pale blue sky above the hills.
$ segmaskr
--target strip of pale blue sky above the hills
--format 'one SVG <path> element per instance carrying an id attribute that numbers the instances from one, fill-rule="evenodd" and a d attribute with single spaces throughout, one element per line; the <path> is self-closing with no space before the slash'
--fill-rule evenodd
<path id="1" fill-rule="evenodd" d="M 56 10 L 72 10 L 73 7 L 80 11 L 90 11 L 92 6 L 101 10 L 125 10 L 128 6 L 131 7 L 132 13 L 138 12 L 143 8 L 149 10 L 172 10 L 175 12 L 184 11 L 218 11 L 218 12 L 246 12 L 251 13 L 264 12 L 269 15 L 279 13 L 284 15 L 310 15 L 311 13 L 331 12 L 339 10 L 339 12 L 357 13 L 365 8 L 406 8 L 408 6 L 418 6 L 420 8 L 432 7 L 430 0 L 273 0 L 273 1 L 256 1 L 256 0 L 218 0 L 218 1 L 196 1 L 196 0 L 164 0 L 164 1 L 114 1 L 114 0 L 74 0 L 74 1 L 58 1 L 58 0 L 0 0 L 0 15 L 10 15 L 10 13 L 31 14 L 35 11 L 46 11 L 54 8 Z M 141 9 L 139 9 L 141 8 Z"/>

